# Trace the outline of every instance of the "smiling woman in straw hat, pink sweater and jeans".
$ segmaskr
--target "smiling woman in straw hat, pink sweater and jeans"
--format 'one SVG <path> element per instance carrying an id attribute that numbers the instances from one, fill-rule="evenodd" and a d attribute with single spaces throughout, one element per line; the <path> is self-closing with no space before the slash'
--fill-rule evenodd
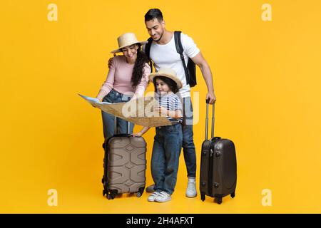
<path id="1" fill-rule="evenodd" d="M 107 79 L 96 97 L 98 100 L 120 103 L 143 96 L 151 73 L 148 57 L 141 51 L 141 46 L 145 43 L 147 41 L 138 41 L 134 33 L 118 37 L 118 48 L 111 53 L 123 52 L 123 55 L 111 58 Z M 109 138 L 114 135 L 115 116 L 103 111 L 101 113 L 103 136 Z M 118 133 L 127 133 L 127 121 L 117 119 Z M 133 133 L 133 123 L 129 132 Z"/>

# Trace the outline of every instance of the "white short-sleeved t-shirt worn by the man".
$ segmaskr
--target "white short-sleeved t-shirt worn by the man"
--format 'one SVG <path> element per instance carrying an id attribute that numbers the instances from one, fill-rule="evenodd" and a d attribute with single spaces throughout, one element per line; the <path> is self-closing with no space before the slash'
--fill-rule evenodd
<path id="1" fill-rule="evenodd" d="M 188 58 L 195 57 L 200 53 L 200 49 L 198 49 L 193 39 L 184 33 L 180 34 L 180 40 L 184 49 L 183 56 L 187 65 Z M 143 46 L 143 51 L 145 51 L 145 46 Z M 156 71 L 158 71 L 159 68 L 173 69 L 183 83 L 183 87 L 180 88 L 179 91 L 180 97 L 190 97 L 190 86 L 186 84 L 185 71 L 183 63 L 180 60 L 180 54 L 176 51 L 174 34 L 173 38 L 166 44 L 161 45 L 153 41 L 151 44 L 150 57 L 155 64 Z"/>

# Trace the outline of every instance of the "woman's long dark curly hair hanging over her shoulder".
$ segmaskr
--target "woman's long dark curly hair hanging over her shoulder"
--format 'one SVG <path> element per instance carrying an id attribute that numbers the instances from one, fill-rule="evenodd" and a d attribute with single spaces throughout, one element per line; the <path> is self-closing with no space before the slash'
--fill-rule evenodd
<path id="1" fill-rule="evenodd" d="M 148 57 L 143 51 L 141 51 L 141 43 L 137 43 L 137 59 L 133 67 L 133 74 L 131 76 L 131 86 L 135 89 L 136 86 L 141 83 L 141 78 L 143 78 L 145 63 L 149 62 Z"/>

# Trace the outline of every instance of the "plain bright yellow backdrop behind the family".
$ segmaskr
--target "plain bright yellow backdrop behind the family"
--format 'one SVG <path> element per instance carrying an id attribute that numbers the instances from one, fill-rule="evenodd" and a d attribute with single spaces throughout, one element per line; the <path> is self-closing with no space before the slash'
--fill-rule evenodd
<path id="1" fill-rule="evenodd" d="M 51 3 L 58 21 L 47 19 Z M 261 19 L 265 3 L 272 21 Z M 117 36 L 148 38 L 150 8 L 163 11 L 168 30 L 193 37 L 213 71 L 215 135 L 233 140 L 238 157 L 236 197 L 221 205 L 185 197 L 183 155 L 171 202 L 102 195 L 101 113 L 77 94 L 98 93 Z M 320 213 L 320 11 L 319 0 L 1 1 L 0 212 Z M 199 69 L 193 91 L 199 176 Z M 153 134 L 145 137 L 148 185 Z M 58 191 L 57 207 L 47 204 L 49 189 Z M 272 191 L 272 207 L 261 204 L 263 189 Z"/>

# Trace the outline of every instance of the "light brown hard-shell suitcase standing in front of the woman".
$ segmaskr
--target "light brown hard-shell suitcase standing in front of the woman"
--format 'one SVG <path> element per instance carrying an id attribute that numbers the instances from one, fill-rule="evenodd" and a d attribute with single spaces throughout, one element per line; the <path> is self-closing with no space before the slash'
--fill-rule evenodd
<path id="1" fill-rule="evenodd" d="M 146 141 L 143 137 L 116 134 L 103 143 L 103 196 L 114 199 L 122 193 L 141 197 L 146 186 Z M 117 133 L 117 118 L 115 118 Z"/>

